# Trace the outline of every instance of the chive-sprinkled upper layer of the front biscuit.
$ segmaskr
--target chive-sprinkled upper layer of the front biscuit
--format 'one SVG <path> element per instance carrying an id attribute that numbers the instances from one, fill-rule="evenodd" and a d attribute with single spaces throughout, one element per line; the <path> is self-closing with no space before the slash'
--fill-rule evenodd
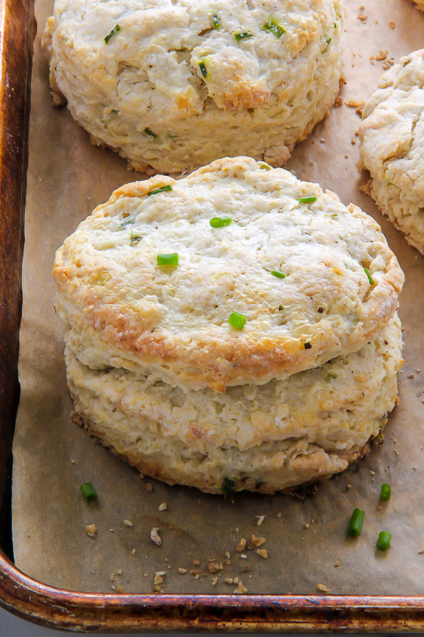
<path id="1" fill-rule="evenodd" d="M 66 239 L 53 277 L 83 364 L 218 391 L 358 350 L 403 285 L 374 219 L 247 157 L 122 186 Z"/>

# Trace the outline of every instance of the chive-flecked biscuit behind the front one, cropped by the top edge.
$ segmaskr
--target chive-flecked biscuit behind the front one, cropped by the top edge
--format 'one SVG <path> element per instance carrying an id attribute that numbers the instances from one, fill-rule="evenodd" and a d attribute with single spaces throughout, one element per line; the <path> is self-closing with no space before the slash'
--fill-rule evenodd
<path id="1" fill-rule="evenodd" d="M 131 168 L 248 154 L 282 165 L 329 111 L 342 0 L 55 0 L 55 103 Z"/>

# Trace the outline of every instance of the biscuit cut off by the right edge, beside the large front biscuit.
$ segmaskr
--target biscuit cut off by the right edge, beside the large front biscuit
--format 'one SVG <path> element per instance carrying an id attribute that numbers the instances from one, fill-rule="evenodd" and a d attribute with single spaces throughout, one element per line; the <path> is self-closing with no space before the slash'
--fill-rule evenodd
<path id="1" fill-rule="evenodd" d="M 362 112 L 360 167 L 371 196 L 424 254 L 424 49 L 382 75 Z"/>

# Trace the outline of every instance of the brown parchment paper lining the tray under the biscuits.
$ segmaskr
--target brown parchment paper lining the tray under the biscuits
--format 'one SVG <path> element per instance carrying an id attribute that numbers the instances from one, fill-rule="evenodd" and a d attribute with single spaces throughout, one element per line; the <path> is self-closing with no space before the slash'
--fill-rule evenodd
<path id="1" fill-rule="evenodd" d="M 384 62 L 371 64 L 371 55 L 387 49 L 387 57 L 397 61 L 424 47 L 424 14 L 409 0 L 362 2 L 363 9 L 359 0 L 348 1 L 344 101 L 360 102 L 376 85 Z M 237 584 L 225 579 L 239 577 L 249 593 L 310 594 L 317 592 L 317 584 L 324 584 L 338 594 L 423 595 L 424 554 L 419 552 L 424 548 L 424 259 L 358 189 L 367 178 L 356 170 L 358 144 L 352 139 L 356 141 L 360 118 L 354 108 L 333 109 L 295 148 L 288 168 L 377 219 L 405 271 L 399 312 L 405 366 L 399 379 L 400 404 L 387 425 L 385 444 L 304 500 L 242 493 L 232 503 L 187 487 L 140 479 L 138 472 L 101 445 L 93 445 L 71 422 L 62 327 L 53 310 L 55 288 L 50 278 L 55 249 L 114 188 L 142 176 L 128 172 L 125 161 L 113 152 L 93 147 L 66 109 L 52 109 L 48 62 L 40 48 L 52 7 L 53 0 L 36 1 L 39 33 L 19 359 L 22 393 L 14 440 L 17 566 L 42 582 L 78 591 L 108 592 L 115 587 L 125 593 L 149 593 L 155 589 L 155 573 L 164 571 L 158 586 L 166 593 L 232 593 Z M 421 367 L 422 372 L 416 371 Z M 86 481 L 95 485 L 98 501 L 82 499 L 80 484 Z M 392 496 L 380 503 L 384 482 L 391 484 Z M 153 490 L 148 491 L 147 484 Z M 160 512 L 164 502 L 167 509 Z M 365 525 L 359 539 L 348 539 L 347 522 L 355 506 L 365 510 Z M 98 529 L 94 538 L 86 535 L 89 523 Z M 160 528 L 161 546 L 150 540 L 154 527 Z M 380 530 L 393 535 L 386 553 L 375 547 Z M 268 550 L 268 559 L 256 550 L 237 552 L 239 540 L 249 541 L 252 534 L 266 539 L 261 548 Z M 211 573 L 210 559 L 223 568 Z M 246 565 L 248 572 L 243 571 Z M 187 572 L 179 573 L 178 568 Z"/>

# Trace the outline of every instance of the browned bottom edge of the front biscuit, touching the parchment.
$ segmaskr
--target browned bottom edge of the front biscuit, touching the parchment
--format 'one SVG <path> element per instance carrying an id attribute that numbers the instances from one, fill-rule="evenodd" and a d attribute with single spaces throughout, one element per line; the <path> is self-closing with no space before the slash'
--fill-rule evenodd
<path id="1" fill-rule="evenodd" d="M 98 430 L 97 427 L 95 427 L 95 424 L 93 424 L 93 422 L 91 422 L 89 418 L 86 418 L 84 416 L 84 413 L 73 411 L 71 418 L 74 420 L 74 422 L 79 424 L 80 427 L 84 427 L 84 429 L 86 429 L 90 436 L 92 436 L 95 440 L 100 440 L 102 445 L 109 449 L 109 451 L 111 451 L 112 454 L 116 456 L 116 458 L 120 458 L 120 460 L 123 460 L 131 467 L 138 469 L 141 474 L 145 474 L 147 476 L 150 476 L 151 478 L 156 478 L 157 480 L 165 482 L 168 485 L 181 484 L 188 487 L 196 487 L 204 493 L 221 495 L 223 494 L 223 484 L 218 484 L 216 482 L 214 483 L 213 478 L 211 483 L 208 485 L 205 485 L 203 476 L 200 475 L 199 478 L 192 478 L 190 479 L 190 481 L 187 481 L 187 476 L 181 474 L 176 477 L 174 471 L 167 472 L 163 468 L 163 465 L 154 460 L 151 460 L 151 458 L 147 458 L 147 456 L 144 456 L 144 458 L 140 460 L 140 454 L 137 454 L 137 456 L 132 454 L 120 454 L 112 445 L 107 442 L 106 437 L 102 432 Z M 297 478 L 297 480 L 294 479 L 292 485 L 284 487 L 283 489 L 278 489 L 274 485 L 267 483 L 266 481 L 258 485 L 257 480 L 254 477 L 243 477 L 241 478 L 241 480 L 237 480 L 236 478 L 235 480 L 231 481 L 233 483 L 231 485 L 232 492 L 244 490 L 270 495 L 276 492 L 283 492 L 291 495 L 296 495 L 297 492 L 300 492 L 302 494 L 302 490 L 304 490 L 304 487 L 313 485 L 315 483 L 326 482 L 335 474 L 338 474 L 344 471 L 344 469 L 347 469 L 347 467 L 349 467 L 351 463 L 354 463 L 356 462 L 356 460 L 367 456 L 367 454 L 369 454 L 369 451 L 371 451 L 372 442 L 382 442 L 382 431 L 387 424 L 387 420 L 387 418 L 382 418 L 378 433 L 371 436 L 371 438 L 369 438 L 369 440 L 365 442 L 365 445 L 363 445 L 361 449 L 354 451 L 353 453 L 349 454 L 349 456 L 339 457 L 335 456 L 335 454 L 326 454 L 323 449 L 318 449 L 313 454 L 296 458 L 295 462 L 297 463 L 297 465 L 299 465 L 298 469 L 306 468 L 312 469 L 312 471 L 315 469 L 315 474 L 313 474 L 313 476 L 311 476 L 311 478 L 306 481 L 302 481 L 302 479 L 300 479 L 299 481 L 299 478 Z M 326 456 L 326 458 L 329 458 L 329 460 L 335 461 L 331 472 L 320 471 L 320 469 L 322 469 L 323 455 Z M 312 456 L 315 456 L 315 458 L 313 458 Z M 304 465 L 304 467 L 302 465 Z"/>

